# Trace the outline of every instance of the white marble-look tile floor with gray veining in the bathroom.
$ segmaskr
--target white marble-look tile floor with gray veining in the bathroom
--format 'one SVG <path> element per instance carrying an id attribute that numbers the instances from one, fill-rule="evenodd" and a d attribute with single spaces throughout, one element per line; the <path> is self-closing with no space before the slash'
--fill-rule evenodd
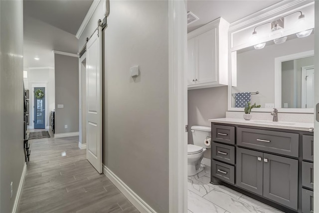
<path id="1" fill-rule="evenodd" d="M 225 186 L 210 184 L 210 167 L 188 177 L 188 213 L 282 213 Z"/>

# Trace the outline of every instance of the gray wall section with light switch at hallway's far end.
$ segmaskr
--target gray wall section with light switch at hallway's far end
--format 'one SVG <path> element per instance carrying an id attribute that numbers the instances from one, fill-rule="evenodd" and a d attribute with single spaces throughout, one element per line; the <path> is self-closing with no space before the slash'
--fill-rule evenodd
<path id="1" fill-rule="evenodd" d="M 54 54 L 54 64 L 55 134 L 79 132 L 79 59 Z M 58 108 L 58 104 L 64 108 Z"/>

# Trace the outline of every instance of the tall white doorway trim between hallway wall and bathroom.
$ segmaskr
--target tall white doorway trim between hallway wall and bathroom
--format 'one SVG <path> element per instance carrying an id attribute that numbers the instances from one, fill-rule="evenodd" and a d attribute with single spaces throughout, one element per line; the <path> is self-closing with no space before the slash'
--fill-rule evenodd
<path id="1" fill-rule="evenodd" d="M 187 1 L 168 1 L 169 212 L 187 212 Z"/>

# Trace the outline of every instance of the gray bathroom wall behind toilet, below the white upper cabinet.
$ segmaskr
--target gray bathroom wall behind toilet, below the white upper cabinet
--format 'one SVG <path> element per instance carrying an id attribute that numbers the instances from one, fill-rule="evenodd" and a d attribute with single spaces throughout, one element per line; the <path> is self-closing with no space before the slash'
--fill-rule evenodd
<path id="1" fill-rule="evenodd" d="M 224 118 L 227 111 L 227 86 L 188 90 L 188 127 L 211 126 L 208 119 Z M 204 139 L 203 139 L 204 140 Z M 188 131 L 188 144 L 193 144 Z M 204 153 L 210 159 L 210 150 Z"/>

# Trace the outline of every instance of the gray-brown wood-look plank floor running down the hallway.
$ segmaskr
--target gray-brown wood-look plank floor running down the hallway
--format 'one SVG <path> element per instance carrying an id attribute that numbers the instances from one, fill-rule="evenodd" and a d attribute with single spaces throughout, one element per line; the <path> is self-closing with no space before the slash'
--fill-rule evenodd
<path id="1" fill-rule="evenodd" d="M 31 140 L 19 213 L 138 213 L 86 160 L 79 137 Z"/>

